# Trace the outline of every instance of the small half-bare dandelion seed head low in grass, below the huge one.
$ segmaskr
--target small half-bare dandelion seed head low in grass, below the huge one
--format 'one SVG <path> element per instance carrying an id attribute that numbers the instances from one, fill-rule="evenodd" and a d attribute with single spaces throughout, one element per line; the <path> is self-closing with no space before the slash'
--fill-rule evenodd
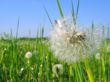
<path id="1" fill-rule="evenodd" d="M 52 68 L 53 74 L 58 77 L 58 75 L 63 74 L 62 64 L 55 64 Z"/>

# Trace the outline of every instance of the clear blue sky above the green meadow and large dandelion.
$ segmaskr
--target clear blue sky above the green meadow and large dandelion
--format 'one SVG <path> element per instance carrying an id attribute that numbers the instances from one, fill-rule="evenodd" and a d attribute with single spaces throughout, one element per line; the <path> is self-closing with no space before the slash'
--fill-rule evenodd
<path id="1" fill-rule="evenodd" d="M 71 0 L 60 0 L 65 16 L 71 14 Z M 73 0 L 76 9 L 77 0 Z M 44 25 L 45 35 L 49 34 L 51 24 L 44 11 L 48 10 L 51 19 L 60 18 L 56 0 L 0 0 L 0 34 L 16 34 L 17 21 L 20 17 L 19 37 L 36 36 L 38 27 Z M 78 21 L 90 25 L 92 21 L 98 24 L 110 24 L 110 0 L 80 0 Z"/>

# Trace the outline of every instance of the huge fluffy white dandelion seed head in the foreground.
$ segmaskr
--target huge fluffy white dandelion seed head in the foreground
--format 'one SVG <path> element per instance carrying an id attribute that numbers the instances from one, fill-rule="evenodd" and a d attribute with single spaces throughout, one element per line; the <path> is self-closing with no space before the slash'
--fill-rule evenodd
<path id="1" fill-rule="evenodd" d="M 56 21 L 50 34 L 50 44 L 55 56 L 68 64 L 88 58 L 100 47 L 102 30 L 80 30 L 71 18 Z"/>

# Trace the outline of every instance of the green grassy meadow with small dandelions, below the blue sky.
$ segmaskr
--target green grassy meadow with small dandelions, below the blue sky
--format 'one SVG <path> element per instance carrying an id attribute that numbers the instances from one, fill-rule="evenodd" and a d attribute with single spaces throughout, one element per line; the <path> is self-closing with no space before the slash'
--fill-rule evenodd
<path id="1" fill-rule="evenodd" d="M 57 4 L 63 17 L 59 0 Z M 77 14 L 78 7 L 76 18 L 72 12 L 75 24 Z M 0 82 L 110 82 L 110 39 L 104 39 L 92 57 L 68 64 L 55 57 L 43 32 L 36 38 L 0 39 Z M 105 34 L 109 36 L 109 31 Z"/>

